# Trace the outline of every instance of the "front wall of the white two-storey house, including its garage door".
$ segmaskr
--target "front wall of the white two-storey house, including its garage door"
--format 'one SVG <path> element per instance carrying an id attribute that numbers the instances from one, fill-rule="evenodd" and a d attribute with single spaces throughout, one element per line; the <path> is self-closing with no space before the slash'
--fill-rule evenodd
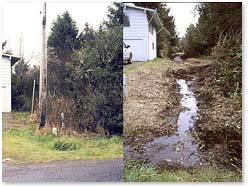
<path id="1" fill-rule="evenodd" d="M 144 10 L 126 7 L 124 13 L 129 17 L 130 27 L 123 27 L 123 40 L 130 45 L 133 61 L 147 61 L 148 19 Z"/>

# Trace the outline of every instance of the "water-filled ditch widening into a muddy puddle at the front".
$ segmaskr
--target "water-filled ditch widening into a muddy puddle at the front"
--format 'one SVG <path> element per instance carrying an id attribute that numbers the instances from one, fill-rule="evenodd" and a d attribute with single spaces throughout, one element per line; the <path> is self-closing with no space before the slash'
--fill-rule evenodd
<path id="1" fill-rule="evenodd" d="M 200 166 L 199 144 L 191 135 L 198 116 L 197 101 L 193 90 L 194 81 L 177 80 L 182 95 L 182 111 L 178 117 L 178 130 L 175 135 L 155 139 L 145 145 L 144 156 L 152 164 L 166 162 L 171 166 Z"/>

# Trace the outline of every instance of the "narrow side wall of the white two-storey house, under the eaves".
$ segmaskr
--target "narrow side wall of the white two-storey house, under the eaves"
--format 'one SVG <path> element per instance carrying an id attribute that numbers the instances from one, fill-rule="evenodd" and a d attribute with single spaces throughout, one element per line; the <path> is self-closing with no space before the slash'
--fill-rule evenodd
<path id="1" fill-rule="evenodd" d="M 149 25 L 153 28 L 153 34 L 149 32 L 149 60 L 157 58 L 157 31 L 153 25 Z"/>

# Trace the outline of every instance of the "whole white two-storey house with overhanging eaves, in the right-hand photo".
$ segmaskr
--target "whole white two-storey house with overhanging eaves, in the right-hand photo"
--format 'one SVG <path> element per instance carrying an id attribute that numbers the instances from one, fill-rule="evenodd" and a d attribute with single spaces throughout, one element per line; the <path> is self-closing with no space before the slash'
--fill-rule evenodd
<path id="1" fill-rule="evenodd" d="M 162 27 L 156 10 L 124 4 L 123 40 L 129 45 L 133 61 L 147 61 L 157 57 L 157 30 Z"/>

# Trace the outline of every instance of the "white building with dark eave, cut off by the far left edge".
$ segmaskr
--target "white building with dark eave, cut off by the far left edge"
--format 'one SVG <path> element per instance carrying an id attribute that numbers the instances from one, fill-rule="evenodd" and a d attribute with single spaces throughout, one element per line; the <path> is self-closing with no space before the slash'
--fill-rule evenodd
<path id="1" fill-rule="evenodd" d="M 2 112 L 11 112 L 11 67 L 21 58 L 3 54 L 1 62 L 1 105 Z"/>

